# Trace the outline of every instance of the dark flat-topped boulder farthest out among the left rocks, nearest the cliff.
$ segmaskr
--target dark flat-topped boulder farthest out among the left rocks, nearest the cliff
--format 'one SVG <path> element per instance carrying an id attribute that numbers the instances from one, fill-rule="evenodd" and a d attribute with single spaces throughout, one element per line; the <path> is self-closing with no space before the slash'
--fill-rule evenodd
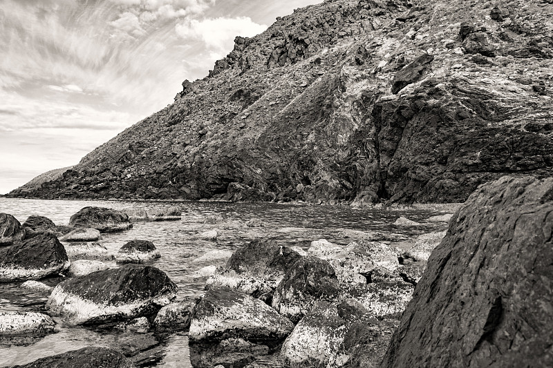
<path id="1" fill-rule="evenodd" d="M 103 207 L 84 207 L 71 216 L 69 226 L 97 229 L 100 233 L 113 233 L 133 227 L 126 213 Z"/>

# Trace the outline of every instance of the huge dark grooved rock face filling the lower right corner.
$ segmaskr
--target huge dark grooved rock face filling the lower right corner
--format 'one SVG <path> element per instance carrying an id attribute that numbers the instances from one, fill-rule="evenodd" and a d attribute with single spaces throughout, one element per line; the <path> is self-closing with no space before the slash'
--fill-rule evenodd
<path id="1" fill-rule="evenodd" d="M 551 367 L 553 179 L 480 186 L 450 222 L 382 367 Z"/>

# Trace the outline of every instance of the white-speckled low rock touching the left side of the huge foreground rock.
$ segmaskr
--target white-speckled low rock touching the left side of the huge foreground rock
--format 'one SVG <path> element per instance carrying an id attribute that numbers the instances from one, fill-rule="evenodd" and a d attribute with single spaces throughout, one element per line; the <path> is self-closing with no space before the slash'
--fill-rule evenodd
<path id="1" fill-rule="evenodd" d="M 371 317 L 399 319 L 413 296 L 413 289 L 413 284 L 404 281 L 376 282 L 344 289 L 340 300 L 357 300 Z"/>

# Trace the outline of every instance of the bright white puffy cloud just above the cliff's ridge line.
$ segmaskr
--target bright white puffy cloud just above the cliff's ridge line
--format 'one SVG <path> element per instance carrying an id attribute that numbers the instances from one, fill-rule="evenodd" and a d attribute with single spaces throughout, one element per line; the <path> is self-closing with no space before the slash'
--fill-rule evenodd
<path id="1" fill-rule="evenodd" d="M 177 24 L 175 30 L 182 39 L 203 41 L 212 57 L 220 58 L 232 50 L 234 37 L 252 37 L 267 29 L 267 26 L 252 21 L 250 17 L 191 19 Z"/>

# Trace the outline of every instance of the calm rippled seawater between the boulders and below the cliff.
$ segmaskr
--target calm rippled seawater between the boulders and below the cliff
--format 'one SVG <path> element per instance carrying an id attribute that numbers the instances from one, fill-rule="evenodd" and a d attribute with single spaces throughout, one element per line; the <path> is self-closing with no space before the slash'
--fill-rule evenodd
<path id="1" fill-rule="evenodd" d="M 153 265 L 165 271 L 178 285 L 178 300 L 203 293 L 205 277 L 198 270 L 210 265 L 225 264 L 226 258 L 202 257 L 216 250 L 234 251 L 252 238 L 273 238 L 280 244 L 307 249 L 312 240 L 325 238 L 347 244 L 337 238 L 343 229 L 378 230 L 404 235 L 417 235 L 443 229 L 443 225 L 424 224 L 409 228 L 394 226 L 397 217 L 424 222 L 430 211 L 356 210 L 348 206 L 298 206 L 282 204 L 230 204 L 220 202 L 131 202 L 81 200 L 22 200 L 0 198 L 0 213 L 10 213 L 23 223 L 29 215 L 42 215 L 57 225 L 69 222 L 69 217 L 85 206 L 112 209 L 161 209 L 177 205 L 182 220 L 174 222 L 135 222 L 133 229 L 122 233 L 102 234 L 100 244 L 116 253 L 127 241 L 151 240 L 160 250 L 161 258 Z M 223 217 L 217 224 L 203 224 L 208 215 Z M 245 223 L 253 218 L 265 222 L 265 227 L 249 228 Z M 207 230 L 218 231 L 217 242 L 192 240 Z M 207 254 L 206 254 L 207 253 Z M 113 262 L 107 264 L 116 267 Z M 42 280 L 55 286 L 63 278 Z M 21 282 L 0 284 L 0 311 L 41 311 L 48 296 L 19 288 Z M 37 358 L 59 354 L 86 346 L 107 346 L 131 356 L 139 367 L 191 367 L 186 333 L 153 333 L 121 328 L 69 327 L 54 317 L 59 332 L 25 345 L 12 345 L 0 340 L 0 367 L 21 365 Z"/>

